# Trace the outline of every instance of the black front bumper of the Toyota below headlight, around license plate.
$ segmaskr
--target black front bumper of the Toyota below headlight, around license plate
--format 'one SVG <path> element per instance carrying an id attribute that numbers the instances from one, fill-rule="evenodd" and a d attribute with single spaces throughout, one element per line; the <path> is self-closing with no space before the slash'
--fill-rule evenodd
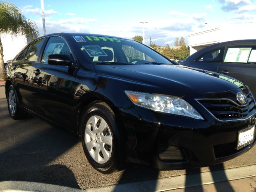
<path id="1" fill-rule="evenodd" d="M 218 164 L 243 154 L 256 143 L 237 150 L 238 132 L 255 125 L 256 114 L 243 121 L 195 120 L 144 108 L 120 109 L 130 162 L 160 169 Z"/>

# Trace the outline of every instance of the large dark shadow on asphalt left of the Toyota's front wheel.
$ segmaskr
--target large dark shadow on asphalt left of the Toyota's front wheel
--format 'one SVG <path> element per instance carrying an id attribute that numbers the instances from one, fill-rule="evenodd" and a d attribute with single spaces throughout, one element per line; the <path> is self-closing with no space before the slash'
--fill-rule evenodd
<path id="1" fill-rule="evenodd" d="M 0 181 L 40 182 L 80 188 L 68 167 L 52 162 L 79 142 L 75 135 L 42 124 L 38 119 L 10 119 L 10 124 L 12 126 L 4 124 L 0 128 L 9 136 L 0 138 Z"/>

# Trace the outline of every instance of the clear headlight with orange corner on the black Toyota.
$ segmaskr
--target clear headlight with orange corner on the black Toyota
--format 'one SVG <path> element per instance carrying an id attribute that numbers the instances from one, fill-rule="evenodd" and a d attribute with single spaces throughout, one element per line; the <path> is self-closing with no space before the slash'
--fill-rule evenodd
<path id="1" fill-rule="evenodd" d="M 182 98 L 134 91 L 125 91 L 130 100 L 138 106 L 154 111 L 188 116 L 203 120 L 202 116 Z"/>

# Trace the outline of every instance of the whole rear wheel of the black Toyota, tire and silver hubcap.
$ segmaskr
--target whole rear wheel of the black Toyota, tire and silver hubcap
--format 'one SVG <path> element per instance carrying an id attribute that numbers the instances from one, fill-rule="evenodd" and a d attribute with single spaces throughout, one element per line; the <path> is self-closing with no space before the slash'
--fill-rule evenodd
<path id="1" fill-rule="evenodd" d="M 22 119 L 24 117 L 23 112 L 19 108 L 17 94 L 14 90 L 13 85 L 10 85 L 10 87 L 8 88 L 7 104 L 8 104 L 9 114 L 13 119 L 17 120 L 17 119 Z"/>

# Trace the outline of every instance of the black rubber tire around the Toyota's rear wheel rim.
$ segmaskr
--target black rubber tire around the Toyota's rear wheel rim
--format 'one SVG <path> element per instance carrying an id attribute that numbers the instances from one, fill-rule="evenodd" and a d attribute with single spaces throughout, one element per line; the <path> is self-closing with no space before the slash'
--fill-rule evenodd
<path id="1" fill-rule="evenodd" d="M 16 102 L 16 108 L 15 108 L 15 112 L 10 110 L 10 92 L 13 93 L 13 96 L 15 97 L 15 102 Z M 13 85 L 10 85 L 7 91 L 7 107 L 8 107 L 8 111 L 10 116 L 14 119 L 14 120 L 19 120 L 19 119 L 23 119 L 24 118 L 24 112 L 22 110 L 20 110 L 19 105 L 18 105 L 18 96 L 16 94 L 16 91 L 13 87 Z"/>

